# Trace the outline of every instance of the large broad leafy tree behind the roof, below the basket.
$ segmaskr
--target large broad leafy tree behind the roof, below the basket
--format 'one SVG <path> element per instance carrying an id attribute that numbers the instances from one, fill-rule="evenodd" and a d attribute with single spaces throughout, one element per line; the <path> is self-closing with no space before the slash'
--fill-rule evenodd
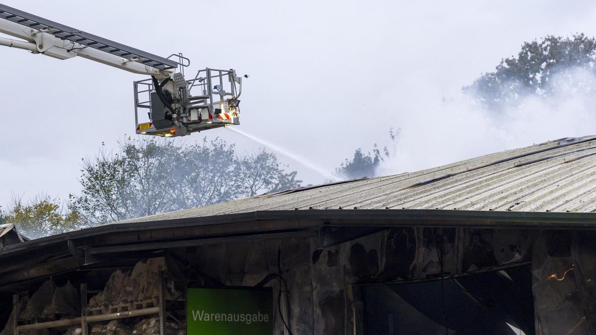
<path id="1" fill-rule="evenodd" d="M 116 154 L 83 160 L 80 196 L 70 208 L 92 224 L 188 209 L 300 187 L 277 156 L 240 156 L 221 139 L 185 145 L 162 139 L 120 142 Z"/>

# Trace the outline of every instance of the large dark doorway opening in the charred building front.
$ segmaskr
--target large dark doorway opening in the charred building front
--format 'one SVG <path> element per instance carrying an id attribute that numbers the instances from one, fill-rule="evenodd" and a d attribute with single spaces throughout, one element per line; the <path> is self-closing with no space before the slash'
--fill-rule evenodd
<path id="1" fill-rule="evenodd" d="M 534 334 L 530 265 L 364 289 L 373 334 Z"/>

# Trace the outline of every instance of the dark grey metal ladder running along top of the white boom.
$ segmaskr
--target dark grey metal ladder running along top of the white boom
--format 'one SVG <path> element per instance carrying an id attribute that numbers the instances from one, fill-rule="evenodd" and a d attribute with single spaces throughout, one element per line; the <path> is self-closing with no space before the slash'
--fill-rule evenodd
<path id="1" fill-rule="evenodd" d="M 64 24 L 50 21 L 33 14 L 8 7 L 7 5 L 0 4 L 0 18 L 13 21 L 14 23 L 21 24 L 25 27 L 41 30 L 42 32 L 54 35 L 59 39 L 70 41 L 73 43 L 73 46 L 75 43 L 78 43 L 84 45 L 85 47 L 98 49 L 119 57 L 125 57 L 131 61 L 155 67 L 156 69 L 175 69 L 179 65 L 179 63 L 176 61 L 150 54 L 149 52 L 135 49 L 128 45 L 110 41 L 108 39 L 101 38 L 100 36 L 82 32 L 73 27 L 64 26 Z"/>

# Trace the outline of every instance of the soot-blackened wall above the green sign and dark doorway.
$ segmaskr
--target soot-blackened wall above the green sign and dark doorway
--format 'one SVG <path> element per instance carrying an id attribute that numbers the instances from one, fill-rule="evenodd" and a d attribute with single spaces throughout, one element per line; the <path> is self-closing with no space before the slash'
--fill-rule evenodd
<path id="1" fill-rule="evenodd" d="M 321 246 L 319 238 L 201 246 L 184 258 L 228 286 L 253 286 L 281 273 L 280 305 L 294 334 L 361 330 L 362 299 L 353 284 L 386 283 L 482 271 L 530 260 L 530 232 L 515 229 L 393 228 Z M 280 283 L 271 281 L 275 299 Z M 285 289 L 283 289 L 285 291 Z M 283 334 L 276 308 L 275 334 Z"/>

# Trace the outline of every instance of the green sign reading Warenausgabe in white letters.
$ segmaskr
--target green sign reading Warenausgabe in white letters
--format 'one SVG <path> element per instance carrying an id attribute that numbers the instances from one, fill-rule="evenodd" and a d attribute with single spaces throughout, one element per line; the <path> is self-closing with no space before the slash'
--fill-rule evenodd
<path id="1" fill-rule="evenodd" d="M 187 335 L 273 334 L 273 291 L 188 289 Z"/>

